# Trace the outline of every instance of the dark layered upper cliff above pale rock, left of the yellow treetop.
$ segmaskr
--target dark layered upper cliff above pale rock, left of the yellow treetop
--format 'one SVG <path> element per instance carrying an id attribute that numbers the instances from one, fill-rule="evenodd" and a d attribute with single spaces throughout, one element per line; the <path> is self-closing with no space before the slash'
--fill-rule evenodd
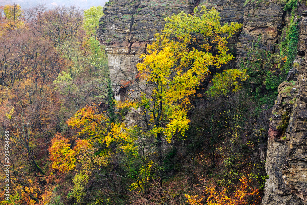
<path id="1" fill-rule="evenodd" d="M 103 8 L 98 39 L 108 53 L 142 54 L 163 29 L 164 18 L 181 11 L 188 12 L 183 0 L 111 0 Z"/>

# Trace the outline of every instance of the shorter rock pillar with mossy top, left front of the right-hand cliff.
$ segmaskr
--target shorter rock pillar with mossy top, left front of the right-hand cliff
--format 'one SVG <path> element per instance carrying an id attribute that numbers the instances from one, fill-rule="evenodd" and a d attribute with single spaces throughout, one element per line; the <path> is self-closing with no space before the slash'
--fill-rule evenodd
<path id="1" fill-rule="evenodd" d="M 286 187 L 283 175 L 283 165 L 288 153 L 288 146 L 284 141 L 292 127 L 294 104 L 297 96 L 297 82 L 283 82 L 278 88 L 277 101 L 273 107 L 273 116 L 270 118 L 268 131 L 268 150 L 266 156 L 266 172 L 269 179 L 266 180 L 263 205 L 299 205 L 301 200 L 291 194 Z M 291 118 L 292 117 L 292 118 Z M 290 119 L 291 118 L 291 119 Z M 290 126 L 288 126 L 290 124 Z"/>

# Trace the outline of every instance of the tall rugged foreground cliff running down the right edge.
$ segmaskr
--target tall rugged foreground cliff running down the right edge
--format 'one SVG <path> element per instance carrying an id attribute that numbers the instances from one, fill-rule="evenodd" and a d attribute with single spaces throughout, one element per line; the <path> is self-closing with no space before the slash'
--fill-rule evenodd
<path id="1" fill-rule="evenodd" d="M 305 5 L 297 9 L 299 36 L 295 61 L 279 85 L 270 123 L 266 171 L 266 204 L 307 204 L 307 78 Z M 303 60 L 304 59 L 304 60 Z"/>

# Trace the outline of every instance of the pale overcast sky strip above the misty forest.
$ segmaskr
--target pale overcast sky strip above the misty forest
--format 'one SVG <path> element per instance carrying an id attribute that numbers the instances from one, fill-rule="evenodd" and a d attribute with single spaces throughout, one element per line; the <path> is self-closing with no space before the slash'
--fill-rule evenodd
<path id="1" fill-rule="evenodd" d="M 34 6 L 38 3 L 45 3 L 46 6 L 52 7 L 52 6 L 71 6 L 71 5 L 77 5 L 80 6 L 82 9 L 88 9 L 91 6 L 104 6 L 106 2 L 109 0 L 0 0 L 0 6 L 4 6 L 6 4 L 13 4 L 14 2 L 16 4 L 19 4 L 21 6 L 21 9 L 27 9 L 30 6 Z"/>

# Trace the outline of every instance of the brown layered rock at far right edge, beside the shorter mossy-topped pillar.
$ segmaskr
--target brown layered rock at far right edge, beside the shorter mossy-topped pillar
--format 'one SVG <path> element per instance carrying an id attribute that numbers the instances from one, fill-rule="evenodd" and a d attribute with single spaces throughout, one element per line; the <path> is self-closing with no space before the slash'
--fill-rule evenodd
<path id="1" fill-rule="evenodd" d="M 307 79 L 304 74 L 299 76 L 296 89 L 295 104 L 285 135 L 287 153 L 282 176 L 291 193 L 307 202 Z"/>

